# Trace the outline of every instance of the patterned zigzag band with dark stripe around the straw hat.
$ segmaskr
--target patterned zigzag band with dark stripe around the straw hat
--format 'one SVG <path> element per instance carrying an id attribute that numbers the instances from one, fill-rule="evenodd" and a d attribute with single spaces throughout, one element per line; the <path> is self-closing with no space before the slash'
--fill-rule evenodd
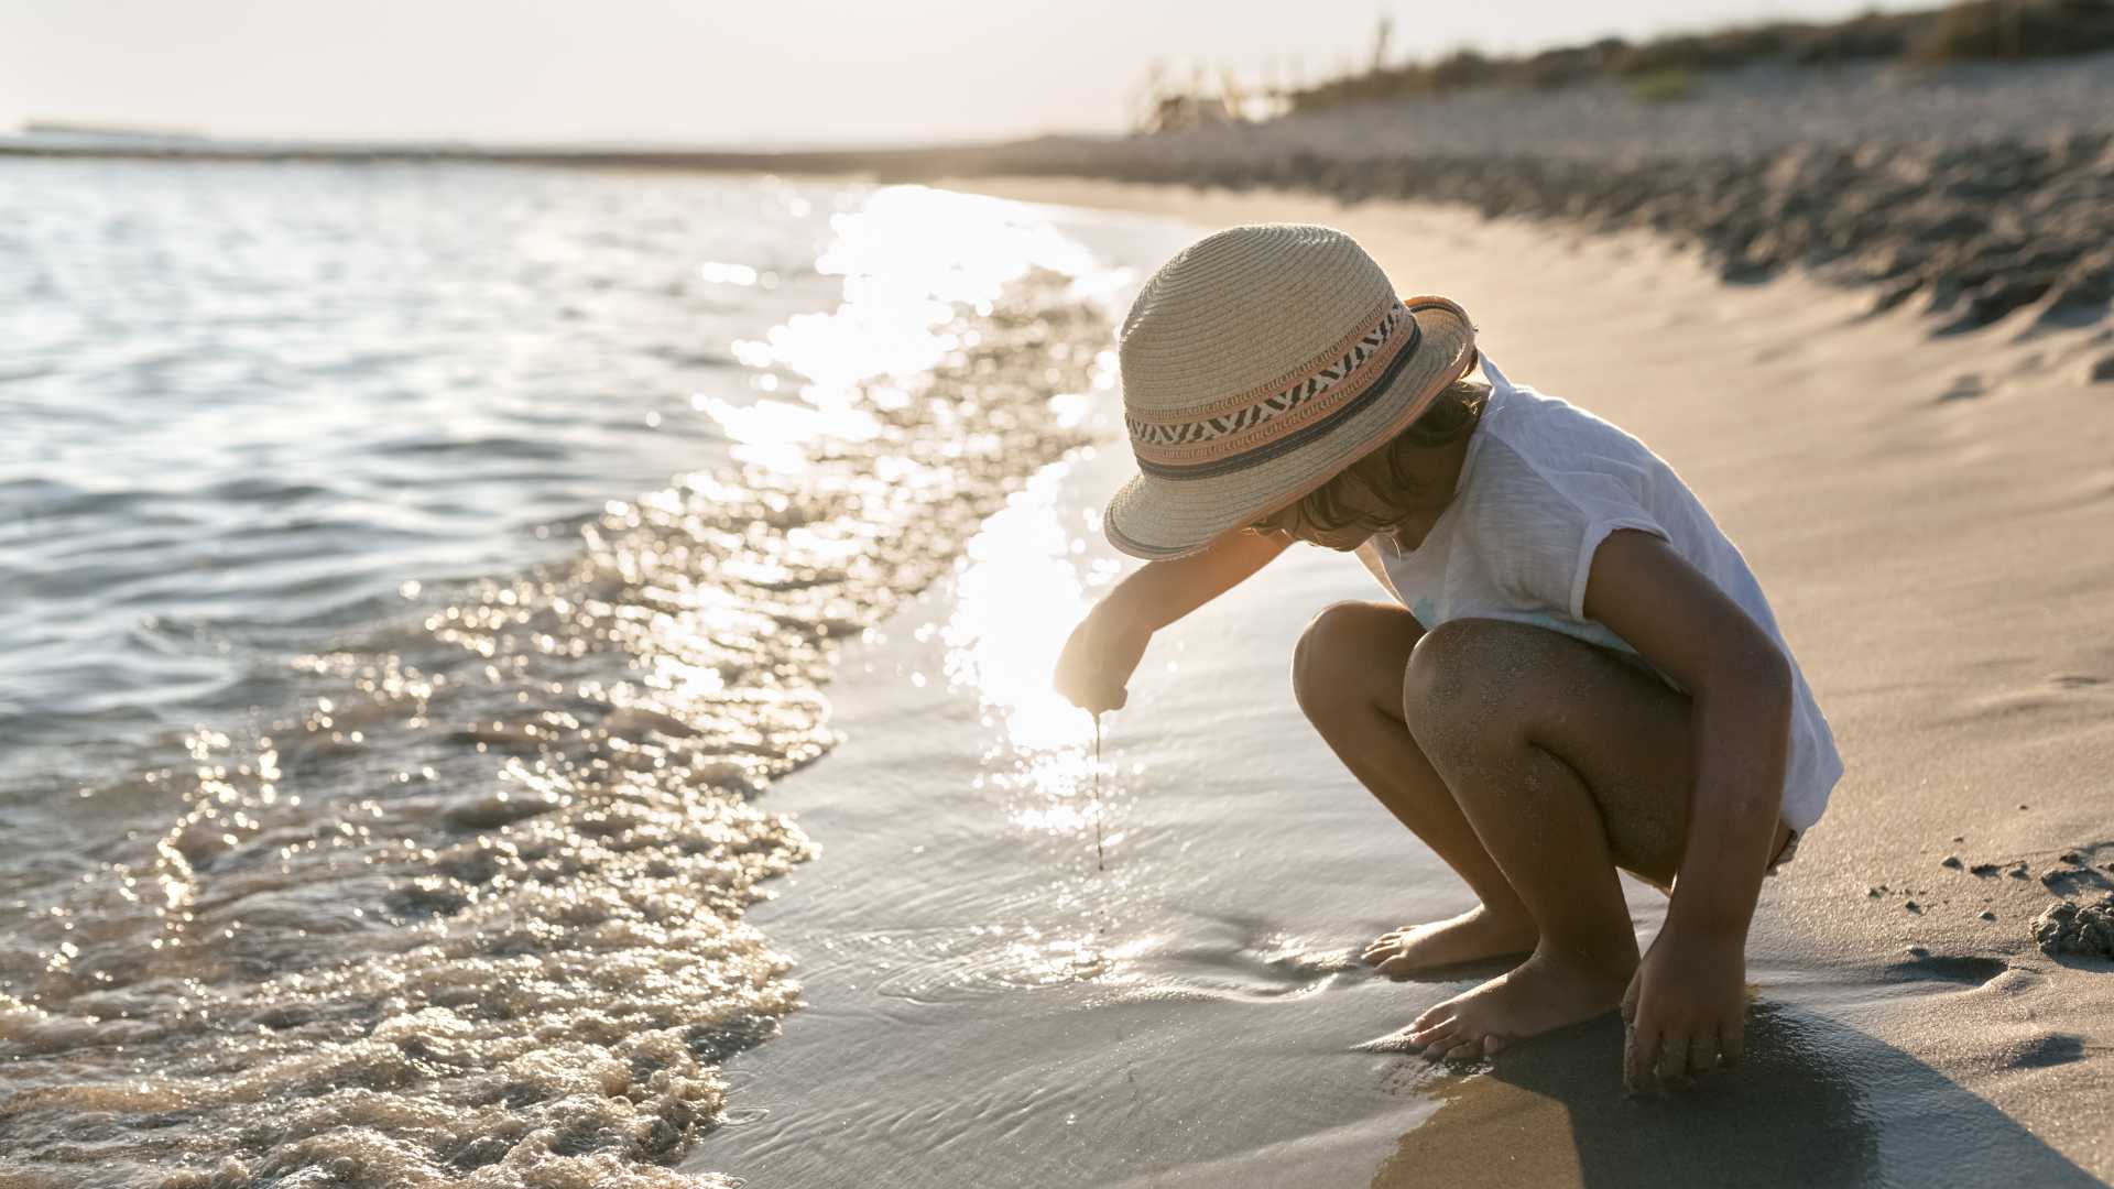
<path id="1" fill-rule="evenodd" d="M 1232 474 L 1325 436 L 1353 417 L 1416 355 L 1414 307 L 1389 296 L 1355 330 L 1298 372 L 1171 417 L 1125 417 L 1137 468 L 1158 478 Z"/>

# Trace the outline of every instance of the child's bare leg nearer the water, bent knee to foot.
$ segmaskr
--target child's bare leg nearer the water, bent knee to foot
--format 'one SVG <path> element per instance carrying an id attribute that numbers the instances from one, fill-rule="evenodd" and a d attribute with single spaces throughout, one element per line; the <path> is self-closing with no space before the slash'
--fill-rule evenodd
<path id="1" fill-rule="evenodd" d="M 1402 715 L 1402 683 L 1423 628 L 1402 607 L 1338 603 L 1292 654 L 1300 709 L 1351 772 L 1482 899 L 1452 920 L 1404 925 L 1366 948 L 1399 975 L 1535 948 L 1535 920 L 1512 891 Z"/>

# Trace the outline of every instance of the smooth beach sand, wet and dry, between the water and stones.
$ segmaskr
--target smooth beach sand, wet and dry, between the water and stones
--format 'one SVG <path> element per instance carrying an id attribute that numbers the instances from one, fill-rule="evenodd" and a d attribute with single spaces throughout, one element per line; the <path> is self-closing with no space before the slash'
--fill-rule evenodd
<path id="1" fill-rule="evenodd" d="M 1611 1020 L 1457 1075 L 1361 1051 L 1476 975 L 1349 963 L 1467 893 L 1292 702 L 1306 618 L 1378 588 L 1304 548 L 1154 641 L 1091 734 L 1042 692 L 1127 565 L 1120 444 L 1046 470 L 951 580 L 846 654 L 846 745 L 782 783 L 822 855 L 750 920 L 808 1009 L 729 1064 L 750 1185 L 2093 1185 L 2114 963 L 2029 922 L 2114 863 L 2106 332 L 1932 336 L 1858 294 L 1725 286 L 1640 233 L 1461 209 L 975 178 L 1173 216 L 1315 220 L 1444 292 L 1507 372 L 1643 436 L 1753 561 L 1850 774 L 1750 941 L 1750 1062 L 1617 1087 Z M 1112 394 L 1104 394 L 1110 404 Z M 1114 429 L 1108 438 L 1114 440 Z M 1958 859 L 1947 865 L 1945 859 Z M 782 906 L 782 910 L 780 910 Z M 1664 901 L 1632 889 L 1638 933 Z"/>

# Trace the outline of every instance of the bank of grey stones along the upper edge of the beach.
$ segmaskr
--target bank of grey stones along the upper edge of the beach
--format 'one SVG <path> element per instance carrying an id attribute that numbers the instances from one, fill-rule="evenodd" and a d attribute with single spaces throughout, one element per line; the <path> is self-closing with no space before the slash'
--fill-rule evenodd
<path id="1" fill-rule="evenodd" d="M 985 169 L 1651 226 L 1729 279 L 1807 267 L 1945 328 L 2114 300 L 2114 55 L 1936 72 L 1755 68 L 1647 104 L 1471 89 L 1268 125 L 991 150 Z"/>

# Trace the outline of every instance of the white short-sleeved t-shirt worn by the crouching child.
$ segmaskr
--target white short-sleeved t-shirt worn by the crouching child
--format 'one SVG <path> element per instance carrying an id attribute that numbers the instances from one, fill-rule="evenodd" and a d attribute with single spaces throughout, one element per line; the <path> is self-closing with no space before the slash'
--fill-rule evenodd
<path id="1" fill-rule="evenodd" d="M 1843 762 L 1746 559 L 1643 442 L 1575 404 L 1505 381 L 1488 355 L 1482 370 L 1490 400 L 1452 501 L 1414 550 L 1402 552 L 1380 533 L 1357 548 L 1359 561 L 1427 630 L 1463 618 L 1514 620 L 1611 647 L 1657 673 L 1621 637 L 1586 618 L 1586 578 L 1594 550 L 1615 529 L 1666 539 L 1791 662 L 1782 817 L 1805 831 L 1826 808 Z"/>

